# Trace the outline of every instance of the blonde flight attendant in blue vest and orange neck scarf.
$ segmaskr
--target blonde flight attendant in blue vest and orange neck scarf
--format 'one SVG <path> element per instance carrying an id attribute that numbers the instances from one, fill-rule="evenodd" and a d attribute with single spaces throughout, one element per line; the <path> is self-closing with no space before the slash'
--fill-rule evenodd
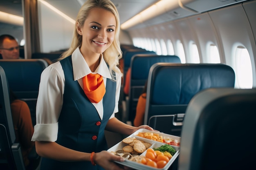
<path id="1" fill-rule="evenodd" d="M 122 170 L 106 151 L 104 130 L 140 128 L 115 117 L 121 87 L 119 14 L 110 0 L 88 0 L 76 18 L 70 49 L 41 75 L 32 141 L 40 170 Z"/>

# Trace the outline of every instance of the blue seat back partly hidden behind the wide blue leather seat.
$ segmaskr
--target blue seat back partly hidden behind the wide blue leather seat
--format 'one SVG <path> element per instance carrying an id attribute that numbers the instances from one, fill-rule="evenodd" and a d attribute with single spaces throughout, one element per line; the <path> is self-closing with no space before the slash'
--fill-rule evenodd
<path id="1" fill-rule="evenodd" d="M 148 79 L 150 67 L 158 62 L 180 63 L 180 58 L 176 55 L 153 55 L 136 54 L 131 59 L 131 74 L 128 97 L 128 114 L 130 121 L 133 122 L 136 114 L 136 106 Z"/>

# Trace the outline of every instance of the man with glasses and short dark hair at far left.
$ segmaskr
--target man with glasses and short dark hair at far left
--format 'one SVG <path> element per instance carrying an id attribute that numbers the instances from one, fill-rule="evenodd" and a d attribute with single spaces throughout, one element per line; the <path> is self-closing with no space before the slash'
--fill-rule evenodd
<path id="1" fill-rule="evenodd" d="M 2 59 L 19 59 L 19 44 L 13 36 L 7 34 L 0 36 L 0 54 Z"/>

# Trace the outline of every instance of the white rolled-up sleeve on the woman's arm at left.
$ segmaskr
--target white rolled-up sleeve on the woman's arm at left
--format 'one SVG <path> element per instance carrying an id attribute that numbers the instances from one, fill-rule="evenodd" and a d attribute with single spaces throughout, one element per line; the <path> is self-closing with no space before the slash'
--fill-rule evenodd
<path id="1" fill-rule="evenodd" d="M 36 104 L 36 125 L 31 141 L 57 140 L 64 84 L 65 77 L 60 62 L 51 64 L 42 72 Z"/>

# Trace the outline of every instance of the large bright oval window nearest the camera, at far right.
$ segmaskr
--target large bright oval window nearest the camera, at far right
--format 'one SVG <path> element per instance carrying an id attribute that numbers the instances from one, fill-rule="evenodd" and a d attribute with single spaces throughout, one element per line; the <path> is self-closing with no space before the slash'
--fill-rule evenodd
<path id="1" fill-rule="evenodd" d="M 236 49 L 236 76 L 239 88 L 252 88 L 252 62 L 246 48 Z"/>

